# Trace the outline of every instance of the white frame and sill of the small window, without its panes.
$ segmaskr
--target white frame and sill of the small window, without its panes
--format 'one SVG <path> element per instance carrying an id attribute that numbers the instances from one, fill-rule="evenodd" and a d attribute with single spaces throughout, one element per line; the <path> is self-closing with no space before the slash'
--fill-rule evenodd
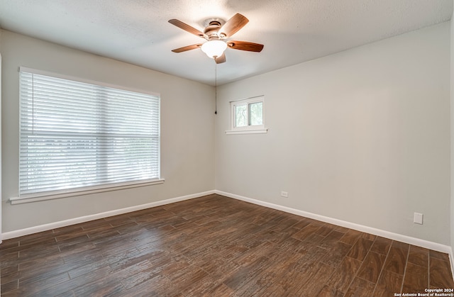
<path id="1" fill-rule="evenodd" d="M 253 103 L 262 103 L 262 125 L 250 125 L 250 105 Z M 246 105 L 246 123 L 248 125 L 236 127 L 236 106 Z M 230 121 L 231 130 L 227 130 L 226 134 L 257 134 L 257 133 L 267 133 L 268 129 L 265 128 L 265 96 L 255 96 L 247 99 L 240 99 L 235 101 L 230 101 Z"/>

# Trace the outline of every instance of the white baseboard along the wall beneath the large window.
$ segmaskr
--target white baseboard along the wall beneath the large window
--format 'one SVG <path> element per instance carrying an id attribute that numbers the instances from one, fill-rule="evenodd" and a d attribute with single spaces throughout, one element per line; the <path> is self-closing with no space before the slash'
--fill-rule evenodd
<path id="1" fill-rule="evenodd" d="M 131 207 L 127 207 L 127 208 L 116 209 L 114 211 L 106 211 L 104 213 L 95 213 L 93 215 L 84 215 L 82 217 L 71 218 L 69 220 L 60 220 L 60 221 L 55 222 L 55 223 L 49 223 L 49 224 L 44 224 L 44 225 L 33 226 L 31 228 L 25 228 L 25 229 L 21 229 L 21 230 L 14 230 L 14 231 L 10 231 L 10 232 L 4 232 L 2 234 L 2 237 L 3 237 L 2 239 L 3 240 L 8 240 L 8 239 L 15 238 L 15 237 L 20 237 L 20 236 L 23 236 L 23 235 L 29 235 L 29 234 L 33 234 L 33 233 L 43 232 L 43 231 L 52 230 L 52 229 L 55 229 L 55 228 L 62 228 L 62 227 L 69 226 L 69 225 L 74 225 L 74 224 L 88 222 L 89 220 L 97 220 L 99 218 L 107 218 L 107 217 L 110 217 L 110 216 L 113 216 L 113 215 L 121 215 L 123 213 L 131 213 L 133 211 L 141 211 L 141 210 L 143 210 L 145 208 L 152 208 L 152 207 L 155 207 L 155 206 L 163 206 L 165 204 L 170 204 L 170 203 L 175 203 L 175 202 L 179 202 L 179 201 L 189 200 L 189 199 L 192 199 L 192 198 L 198 198 L 198 197 L 201 197 L 201 196 L 211 195 L 211 194 L 214 194 L 214 193 L 215 193 L 215 191 L 206 191 L 206 192 L 201 192 L 201 193 L 197 193 L 197 194 L 191 194 L 191 195 L 187 195 L 187 196 L 180 196 L 180 197 L 170 198 L 170 199 L 166 199 L 166 200 L 162 200 L 162 201 L 156 201 L 156 202 L 141 204 L 141 205 L 138 205 L 138 206 L 131 206 Z"/>

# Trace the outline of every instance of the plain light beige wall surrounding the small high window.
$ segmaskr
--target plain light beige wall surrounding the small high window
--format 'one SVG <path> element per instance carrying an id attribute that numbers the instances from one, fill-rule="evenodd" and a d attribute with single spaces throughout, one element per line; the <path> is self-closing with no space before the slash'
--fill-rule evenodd
<path id="1" fill-rule="evenodd" d="M 218 87 L 216 190 L 450 245 L 449 40 L 442 23 Z M 228 102 L 258 95 L 269 132 L 226 135 Z"/>

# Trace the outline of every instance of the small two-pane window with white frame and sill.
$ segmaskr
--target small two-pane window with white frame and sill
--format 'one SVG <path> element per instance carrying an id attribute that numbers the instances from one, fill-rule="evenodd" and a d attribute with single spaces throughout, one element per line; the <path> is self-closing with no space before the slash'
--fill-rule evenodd
<path id="1" fill-rule="evenodd" d="M 231 101 L 231 130 L 226 133 L 266 133 L 264 106 L 264 96 Z"/>

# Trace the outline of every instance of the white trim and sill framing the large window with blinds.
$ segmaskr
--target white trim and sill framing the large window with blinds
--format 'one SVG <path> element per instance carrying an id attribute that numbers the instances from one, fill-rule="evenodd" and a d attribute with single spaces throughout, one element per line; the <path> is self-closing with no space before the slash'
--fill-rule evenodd
<path id="1" fill-rule="evenodd" d="M 104 192 L 104 191 L 115 191 L 115 190 L 119 190 L 119 189 L 130 189 L 130 188 L 135 188 L 138 186 L 149 186 L 149 185 L 153 185 L 153 184 L 164 183 L 164 179 L 162 179 L 162 177 L 160 176 L 160 138 L 161 138 L 161 136 L 160 136 L 160 94 L 150 92 L 150 91 L 131 89 L 131 88 L 117 86 L 117 85 L 113 85 L 113 84 L 106 84 L 104 82 L 96 82 L 96 81 L 92 81 L 89 79 L 81 79 L 79 77 L 70 77 L 70 76 L 66 76 L 66 75 L 62 75 L 62 74 L 45 72 L 42 70 L 31 69 L 31 68 L 27 68 L 27 67 L 20 67 L 19 73 L 20 72 L 28 72 L 31 74 L 44 75 L 47 77 L 54 77 L 56 79 L 66 79 L 66 80 L 70 80 L 72 82 L 80 82 L 80 83 L 84 83 L 84 84 L 94 84 L 97 86 L 118 89 L 121 91 L 131 91 L 134 93 L 145 94 L 145 95 L 155 97 L 155 100 L 157 100 L 157 133 L 158 134 L 157 134 L 157 152 L 156 153 L 157 153 L 157 166 L 158 167 L 157 167 L 157 178 L 134 179 L 131 181 L 114 182 L 114 183 L 107 182 L 107 183 L 95 184 L 95 185 L 91 185 L 91 186 L 81 186 L 81 187 L 76 186 L 76 187 L 71 187 L 68 189 L 55 190 L 55 191 L 41 191 L 41 192 L 38 191 L 35 193 L 23 194 L 18 197 L 10 198 L 11 204 L 28 203 L 28 202 L 33 202 L 33 201 L 42 201 L 42 200 L 48 200 L 48 199 L 54 199 L 54 198 L 63 198 L 63 197 L 68 197 L 68 196 L 94 194 L 94 193 L 99 193 L 99 192 Z M 21 82 L 19 83 L 19 87 L 21 87 Z M 21 118 L 21 116 L 19 118 Z"/>

